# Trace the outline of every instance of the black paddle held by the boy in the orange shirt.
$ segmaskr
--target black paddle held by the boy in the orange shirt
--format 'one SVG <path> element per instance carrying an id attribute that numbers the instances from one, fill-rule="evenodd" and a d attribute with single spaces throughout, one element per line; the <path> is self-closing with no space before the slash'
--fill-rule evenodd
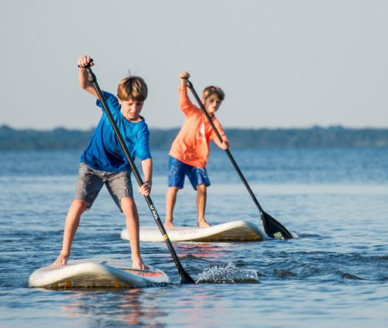
<path id="1" fill-rule="evenodd" d="M 194 95 L 194 98 L 199 103 L 199 107 L 204 112 L 206 118 L 208 119 L 208 122 L 210 123 L 211 127 L 213 128 L 215 134 L 218 137 L 218 140 L 220 142 L 223 142 L 223 139 L 220 136 L 220 133 L 217 130 L 217 127 L 215 127 L 213 121 L 211 120 L 211 117 L 209 116 L 208 112 L 206 111 L 204 104 L 201 102 L 201 99 L 199 99 L 198 94 L 196 94 L 196 91 L 193 87 L 192 82 L 189 81 L 189 79 L 186 79 L 187 86 L 192 91 L 192 94 Z M 249 187 L 248 182 L 246 182 L 246 179 L 244 175 L 242 175 L 241 170 L 237 166 L 236 161 L 234 160 L 232 154 L 228 149 L 225 150 L 225 153 L 227 153 L 227 157 L 229 157 L 230 161 L 232 162 L 234 168 L 236 169 L 239 177 L 242 179 L 242 182 L 244 183 L 244 186 L 248 190 L 249 194 L 251 195 L 251 198 L 254 200 L 254 203 L 256 204 L 258 211 L 260 213 L 261 220 L 263 221 L 263 226 L 265 233 L 268 234 L 271 238 L 277 238 L 277 239 L 292 239 L 292 234 L 285 228 L 283 225 L 275 220 L 272 216 L 270 216 L 268 213 L 265 213 L 263 208 L 261 208 L 260 204 L 258 203 L 258 200 L 256 199 L 256 196 L 254 195 L 254 192 L 252 191 L 251 187 Z"/>

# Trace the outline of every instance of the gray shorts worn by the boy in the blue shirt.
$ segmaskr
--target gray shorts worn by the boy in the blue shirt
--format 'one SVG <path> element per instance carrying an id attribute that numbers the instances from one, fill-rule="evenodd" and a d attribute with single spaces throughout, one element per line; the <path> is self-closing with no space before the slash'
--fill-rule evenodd
<path id="1" fill-rule="evenodd" d="M 94 170 L 89 165 L 80 163 L 74 199 L 85 201 L 88 205 L 87 209 L 89 209 L 105 184 L 113 201 L 115 201 L 120 211 L 123 212 L 120 199 L 124 197 L 133 198 L 130 175 L 130 170 L 106 172 Z"/>

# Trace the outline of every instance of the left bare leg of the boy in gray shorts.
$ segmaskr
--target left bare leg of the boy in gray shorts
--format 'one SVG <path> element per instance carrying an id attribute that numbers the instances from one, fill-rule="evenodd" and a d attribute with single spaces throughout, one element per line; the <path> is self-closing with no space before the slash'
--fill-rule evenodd
<path id="1" fill-rule="evenodd" d="M 66 265 L 70 256 L 71 244 L 77 231 L 78 225 L 80 225 L 80 218 L 82 213 L 85 212 L 87 203 L 81 199 L 75 199 L 69 208 L 68 215 L 65 220 L 65 228 L 63 230 L 63 244 L 61 253 L 53 263 L 54 265 Z"/>

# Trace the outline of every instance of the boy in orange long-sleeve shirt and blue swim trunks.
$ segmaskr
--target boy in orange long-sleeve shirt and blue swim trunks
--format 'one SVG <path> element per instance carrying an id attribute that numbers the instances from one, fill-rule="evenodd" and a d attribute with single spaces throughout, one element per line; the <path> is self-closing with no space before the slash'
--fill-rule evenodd
<path id="1" fill-rule="evenodd" d="M 229 141 L 225 136 L 223 127 L 214 116 L 225 98 L 223 90 L 219 87 L 206 87 L 201 99 L 223 139 L 221 143 L 201 108 L 194 106 L 187 96 L 186 79 L 189 77 L 188 72 L 180 74 L 180 109 L 186 116 L 186 120 L 175 137 L 169 153 L 168 191 L 165 200 L 164 222 L 166 228 L 173 227 L 173 210 L 177 192 L 183 188 L 185 175 L 189 177 L 193 188 L 196 189 L 197 225 L 198 227 L 210 226 L 205 219 L 206 187 L 210 186 L 205 168 L 210 151 L 209 142 L 213 140 L 223 150 L 229 148 Z"/>

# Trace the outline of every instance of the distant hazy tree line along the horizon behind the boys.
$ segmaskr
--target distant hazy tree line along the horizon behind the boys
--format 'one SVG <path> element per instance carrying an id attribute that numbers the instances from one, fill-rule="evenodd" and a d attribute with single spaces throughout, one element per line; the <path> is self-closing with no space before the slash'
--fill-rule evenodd
<path id="1" fill-rule="evenodd" d="M 169 149 L 178 128 L 150 129 L 151 149 Z M 308 127 L 277 129 L 225 128 L 232 149 L 258 147 L 348 147 L 388 146 L 388 128 Z M 94 128 L 68 130 L 16 130 L 7 125 L 0 127 L 0 151 L 83 149 Z"/>

